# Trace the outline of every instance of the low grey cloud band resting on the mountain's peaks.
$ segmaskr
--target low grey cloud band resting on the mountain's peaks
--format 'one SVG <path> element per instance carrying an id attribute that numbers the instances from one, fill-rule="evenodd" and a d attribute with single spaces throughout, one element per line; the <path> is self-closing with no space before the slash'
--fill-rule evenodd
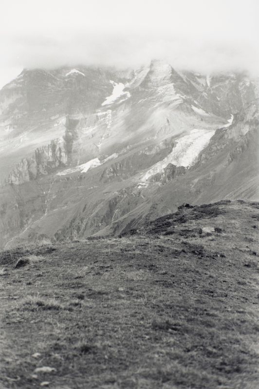
<path id="1" fill-rule="evenodd" d="M 92 34 L 91 34 L 92 35 Z M 74 35 L 69 39 L 43 40 L 39 36 L 19 37 L 8 43 L 8 63 L 25 68 L 55 68 L 86 64 L 138 67 L 151 59 L 163 59 L 173 67 L 202 72 L 243 70 L 258 71 L 258 53 L 251 42 L 202 41 L 184 36 L 117 35 L 104 37 Z"/>

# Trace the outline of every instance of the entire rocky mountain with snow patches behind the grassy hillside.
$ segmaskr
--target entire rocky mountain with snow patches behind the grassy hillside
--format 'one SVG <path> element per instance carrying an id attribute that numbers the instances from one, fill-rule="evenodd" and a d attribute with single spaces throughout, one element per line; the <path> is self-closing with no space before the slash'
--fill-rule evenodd
<path id="1" fill-rule="evenodd" d="M 24 70 L 0 91 L 0 245 L 121 234 L 259 200 L 258 80 L 153 60 Z"/>

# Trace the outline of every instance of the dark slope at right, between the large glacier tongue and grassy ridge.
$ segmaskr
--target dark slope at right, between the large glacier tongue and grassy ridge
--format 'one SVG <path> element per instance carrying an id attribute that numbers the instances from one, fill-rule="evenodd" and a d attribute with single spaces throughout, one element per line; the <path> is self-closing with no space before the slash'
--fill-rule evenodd
<path id="1" fill-rule="evenodd" d="M 167 176 L 166 184 L 161 186 L 159 182 L 151 199 L 148 197 L 150 187 L 143 189 L 146 202 L 98 234 L 120 233 L 138 227 L 147 220 L 174 211 L 183 201 L 202 204 L 222 198 L 258 200 L 259 122 L 256 109 L 252 104 L 252 113 L 247 110 L 246 115 L 238 117 L 236 124 L 217 130 L 184 176 L 172 179 Z M 167 170 L 168 167 L 160 175 L 164 181 Z"/>

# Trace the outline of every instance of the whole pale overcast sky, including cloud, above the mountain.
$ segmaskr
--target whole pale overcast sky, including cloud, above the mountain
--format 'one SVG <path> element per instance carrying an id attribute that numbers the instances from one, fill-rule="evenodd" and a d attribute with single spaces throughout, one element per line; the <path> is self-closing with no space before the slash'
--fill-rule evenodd
<path id="1" fill-rule="evenodd" d="M 23 68 L 137 67 L 258 75 L 259 0 L 0 0 L 0 87 Z"/>

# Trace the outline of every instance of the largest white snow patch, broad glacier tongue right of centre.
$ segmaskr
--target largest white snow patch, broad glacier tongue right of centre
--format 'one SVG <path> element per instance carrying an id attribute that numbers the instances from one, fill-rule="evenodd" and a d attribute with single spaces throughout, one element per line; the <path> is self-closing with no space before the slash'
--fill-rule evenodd
<path id="1" fill-rule="evenodd" d="M 142 177 L 146 181 L 156 173 L 162 172 L 168 163 L 176 166 L 191 166 L 200 152 L 209 143 L 210 138 L 214 135 L 215 130 L 193 129 L 188 135 L 178 139 L 172 152 L 162 161 L 155 163 L 151 169 Z"/>

